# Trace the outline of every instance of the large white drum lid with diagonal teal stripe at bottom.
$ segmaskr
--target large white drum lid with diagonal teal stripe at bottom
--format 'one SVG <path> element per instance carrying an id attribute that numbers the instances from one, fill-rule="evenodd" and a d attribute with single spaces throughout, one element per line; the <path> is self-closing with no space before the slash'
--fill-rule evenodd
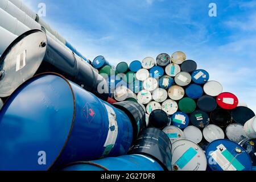
<path id="1" fill-rule="evenodd" d="M 174 171 L 206 171 L 207 158 L 196 143 L 177 140 L 172 143 L 172 168 Z"/>

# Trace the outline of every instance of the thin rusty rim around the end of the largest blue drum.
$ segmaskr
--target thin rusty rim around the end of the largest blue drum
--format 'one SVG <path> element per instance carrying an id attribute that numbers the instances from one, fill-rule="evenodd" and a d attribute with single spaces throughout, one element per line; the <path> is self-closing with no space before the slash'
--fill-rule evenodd
<path id="1" fill-rule="evenodd" d="M 71 126 L 70 126 L 70 129 L 69 129 L 69 133 L 68 133 L 68 137 L 67 139 L 65 140 L 65 143 L 63 144 L 63 147 L 61 148 L 59 154 L 56 156 L 56 159 L 51 163 L 51 166 L 49 166 L 47 168 L 46 171 L 50 171 L 56 164 L 56 162 L 59 160 L 60 158 L 60 155 L 63 153 L 63 151 L 65 150 L 65 147 L 67 146 L 67 143 L 68 143 L 68 140 L 69 138 L 71 137 L 71 134 L 72 134 L 72 131 L 73 131 L 73 126 L 75 124 L 75 118 L 76 118 L 76 97 L 75 97 L 75 93 L 73 91 L 73 88 L 71 86 L 71 84 L 69 83 L 68 79 L 65 78 L 64 76 L 60 75 L 59 73 L 55 73 L 55 72 L 45 72 L 45 73 L 39 73 L 38 75 L 35 75 L 34 77 L 31 77 L 29 78 L 27 81 L 23 82 L 14 92 L 13 94 L 17 93 L 21 88 L 23 88 L 23 86 L 26 86 L 27 85 L 27 82 L 30 82 L 32 80 L 35 80 L 36 78 L 40 78 L 42 76 L 47 76 L 47 75 L 53 75 L 53 76 L 57 76 L 57 77 L 60 77 L 62 78 L 65 82 L 67 82 L 68 84 L 68 87 L 71 89 L 71 93 L 72 93 L 72 97 L 73 97 L 73 118 L 72 118 L 72 122 L 71 122 Z M 12 94 L 12 95 L 13 95 Z M 6 103 L 11 99 L 11 96 L 7 98 L 6 100 Z M 2 107 L 2 109 L 4 109 L 5 107 L 7 107 L 7 105 L 4 105 Z M 1 110 L 2 110 L 1 109 Z"/>

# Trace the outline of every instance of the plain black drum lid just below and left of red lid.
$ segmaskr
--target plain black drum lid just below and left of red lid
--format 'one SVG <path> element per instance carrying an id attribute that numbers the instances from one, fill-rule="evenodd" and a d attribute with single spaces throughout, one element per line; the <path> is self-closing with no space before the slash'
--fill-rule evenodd
<path id="1" fill-rule="evenodd" d="M 232 123 L 232 116 L 228 110 L 219 108 L 210 113 L 210 120 L 217 126 L 227 127 Z"/>

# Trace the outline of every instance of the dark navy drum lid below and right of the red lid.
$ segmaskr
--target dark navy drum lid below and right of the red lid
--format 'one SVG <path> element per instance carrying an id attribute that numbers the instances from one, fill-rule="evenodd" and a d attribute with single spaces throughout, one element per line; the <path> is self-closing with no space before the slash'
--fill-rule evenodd
<path id="1" fill-rule="evenodd" d="M 238 106 L 233 109 L 231 111 L 231 115 L 233 121 L 236 123 L 240 123 L 241 125 L 245 125 L 247 121 L 255 117 L 254 111 L 244 106 Z"/>

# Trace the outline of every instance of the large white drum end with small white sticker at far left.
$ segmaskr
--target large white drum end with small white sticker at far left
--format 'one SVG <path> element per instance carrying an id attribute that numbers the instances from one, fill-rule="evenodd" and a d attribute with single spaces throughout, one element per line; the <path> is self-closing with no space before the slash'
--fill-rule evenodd
<path id="1" fill-rule="evenodd" d="M 0 57 L 0 97 L 8 97 L 24 81 L 35 75 L 47 48 L 46 34 L 30 30 L 20 35 Z"/>

